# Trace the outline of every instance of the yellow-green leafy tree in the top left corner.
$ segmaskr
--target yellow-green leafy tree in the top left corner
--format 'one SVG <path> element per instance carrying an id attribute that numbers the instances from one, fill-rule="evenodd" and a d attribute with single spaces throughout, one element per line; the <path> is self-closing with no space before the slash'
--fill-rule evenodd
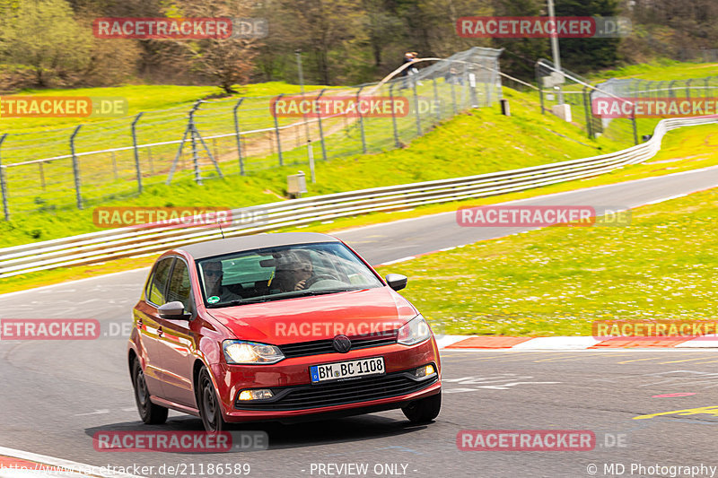
<path id="1" fill-rule="evenodd" d="M 92 36 L 65 0 L 22 0 L 0 22 L 0 56 L 30 66 L 35 86 L 78 72 L 90 62 Z"/>

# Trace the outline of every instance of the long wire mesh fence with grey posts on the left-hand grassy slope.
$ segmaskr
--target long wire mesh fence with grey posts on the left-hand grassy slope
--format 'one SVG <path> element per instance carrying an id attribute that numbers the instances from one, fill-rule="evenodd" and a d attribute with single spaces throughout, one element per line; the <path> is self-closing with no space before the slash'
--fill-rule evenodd
<path id="1" fill-rule="evenodd" d="M 187 178 L 201 183 L 305 164 L 310 153 L 326 161 L 401 147 L 460 111 L 499 100 L 500 54 L 493 48 L 470 48 L 424 62 L 432 63 L 425 67 L 409 67 L 381 83 L 301 95 L 200 100 L 189 110 L 145 111 L 64 129 L 0 134 L 4 219 L 15 213 L 84 208 L 153 184 Z M 299 108 L 284 114 L 277 103 Z M 306 104 L 311 109 L 302 109 Z"/>

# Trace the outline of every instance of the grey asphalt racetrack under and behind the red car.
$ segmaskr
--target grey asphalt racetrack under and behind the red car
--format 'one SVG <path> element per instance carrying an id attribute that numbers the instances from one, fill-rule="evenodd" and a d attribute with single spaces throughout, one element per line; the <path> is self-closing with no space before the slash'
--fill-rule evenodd
<path id="1" fill-rule="evenodd" d="M 635 207 L 718 186 L 718 168 L 523 200 L 521 204 Z M 515 203 L 514 203 L 515 204 Z M 519 229 L 460 228 L 454 213 L 338 233 L 372 264 Z M 96 318 L 91 341 L 0 342 L 0 446 L 98 466 L 249 464 L 249 476 L 718 476 L 718 352 L 711 350 L 442 351 L 437 420 L 412 426 L 400 411 L 325 422 L 247 424 L 262 451 L 99 452 L 100 430 L 202 430 L 171 412 L 138 418 L 127 373 L 130 309 L 146 270 L 0 296 L 3 318 Z M 408 287 L 411 287 L 409 282 Z M 642 417 L 642 418 L 636 418 Z M 462 430 L 591 430 L 586 451 L 460 450 Z M 366 465 L 363 472 L 361 466 Z M 713 468 L 711 468 L 713 467 Z M 206 470 L 206 468 L 205 468 Z M 9 476 L 9 475 L 8 475 Z M 13 476 L 22 476 L 16 474 Z M 225 475 L 226 476 L 226 475 Z"/>

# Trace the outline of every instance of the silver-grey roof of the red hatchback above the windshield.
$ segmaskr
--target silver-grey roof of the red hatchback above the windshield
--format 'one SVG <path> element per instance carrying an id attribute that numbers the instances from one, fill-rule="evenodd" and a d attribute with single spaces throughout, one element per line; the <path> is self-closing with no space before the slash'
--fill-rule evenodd
<path id="1" fill-rule="evenodd" d="M 311 244 L 313 242 L 340 242 L 340 240 L 318 232 L 278 232 L 275 234 L 255 234 L 239 238 L 207 240 L 177 248 L 177 250 L 185 251 L 195 259 L 204 259 L 257 248 L 274 248 L 294 244 Z"/>

